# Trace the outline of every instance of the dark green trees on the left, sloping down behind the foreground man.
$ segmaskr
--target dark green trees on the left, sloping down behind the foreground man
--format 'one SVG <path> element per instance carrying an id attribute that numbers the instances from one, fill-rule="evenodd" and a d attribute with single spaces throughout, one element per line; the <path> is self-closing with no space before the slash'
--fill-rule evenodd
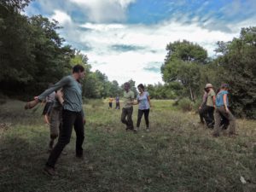
<path id="1" fill-rule="evenodd" d="M 84 97 L 102 98 L 122 93 L 122 85 L 109 81 L 100 71 L 92 72 L 86 55 L 65 43 L 57 32 L 56 20 L 42 15 L 28 17 L 20 12 L 30 0 L 0 2 L 0 86 L 1 92 L 19 99 L 35 96 L 84 64 Z M 135 90 L 135 82 L 130 80 Z"/>

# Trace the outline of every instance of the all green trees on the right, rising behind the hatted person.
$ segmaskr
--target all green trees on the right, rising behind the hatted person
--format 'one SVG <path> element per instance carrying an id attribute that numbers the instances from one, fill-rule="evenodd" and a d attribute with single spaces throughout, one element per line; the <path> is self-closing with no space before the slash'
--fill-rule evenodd
<path id="1" fill-rule="evenodd" d="M 230 107 L 236 116 L 256 119 L 256 27 L 241 29 L 239 38 L 218 42 L 218 56 L 208 59 L 205 49 L 187 41 L 168 44 L 161 73 L 166 84 L 180 82 L 177 96 L 201 98 L 205 84 L 216 89 L 230 84 Z M 204 65 L 202 65 L 204 64 Z M 172 90 L 170 88 L 170 90 Z"/>

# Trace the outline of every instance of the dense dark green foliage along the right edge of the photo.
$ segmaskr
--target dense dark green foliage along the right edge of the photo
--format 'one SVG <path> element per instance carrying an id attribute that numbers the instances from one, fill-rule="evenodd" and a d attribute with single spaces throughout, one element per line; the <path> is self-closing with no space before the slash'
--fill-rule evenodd
<path id="1" fill-rule="evenodd" d="M 218 57 L 220 74 L 230 84 L 232 108 L 242 117 L 256 119 L 256 27 L 242 28 L 239 38 L 225 44 Z"/>

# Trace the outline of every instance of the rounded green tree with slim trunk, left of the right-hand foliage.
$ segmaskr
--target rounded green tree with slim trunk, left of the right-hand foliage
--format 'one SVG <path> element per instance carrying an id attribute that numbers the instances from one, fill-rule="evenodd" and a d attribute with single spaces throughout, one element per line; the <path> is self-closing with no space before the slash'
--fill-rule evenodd
<path id="1" fill-rule="evenodd" d="M 195 101 L 201 79 L 200 67 L 207 63 L 207 50 L 185 40 L 167 44 L 166 50 L 166 60 L 161 67 L 163 80 L 180 82 L 184 92 Z"/>

